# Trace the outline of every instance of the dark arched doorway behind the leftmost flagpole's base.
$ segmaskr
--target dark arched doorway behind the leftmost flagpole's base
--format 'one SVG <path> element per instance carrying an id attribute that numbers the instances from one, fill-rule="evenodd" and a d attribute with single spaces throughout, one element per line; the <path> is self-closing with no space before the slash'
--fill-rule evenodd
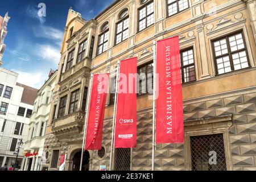
<path id="1" fill-rule="evenodd" d="M 89 159 L 90 159 L 89 152 L 84 151 L 84 157 L 82 160 L 82 171 L 89 171 Z M 76 152 L 72 160 L 73 160 L 72 171 L 79 171 L 80 161 L 81 161 L 81 151 Z"/>

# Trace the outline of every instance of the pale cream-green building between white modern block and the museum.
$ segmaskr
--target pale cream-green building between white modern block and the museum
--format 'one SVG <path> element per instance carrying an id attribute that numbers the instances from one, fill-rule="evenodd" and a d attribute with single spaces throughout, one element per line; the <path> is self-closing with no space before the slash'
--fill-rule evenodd
<path id="1" fill-rule="evenodd" d="M 49 121 L 49 111 L 51 109 L 56 75 L 57 71 L 53 72 L 51 69 L 48 80 L 38 90 L 34 102 L 34 110 L 28 124 L 27 141 L 24 143 L 23 151 L 27 155 L 23 168 L 24 171 L 41 170 L 46 126 Z"/>

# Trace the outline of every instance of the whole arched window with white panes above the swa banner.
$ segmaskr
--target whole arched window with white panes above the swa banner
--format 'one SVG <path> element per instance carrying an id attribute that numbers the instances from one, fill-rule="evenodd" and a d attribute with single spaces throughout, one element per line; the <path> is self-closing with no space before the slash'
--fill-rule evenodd
<path id="1" fill-rule="evenodd" d="M 119 22 L 117 22 L 117 31 L 115 35 L 115 44 L 121 43 L 128 38 L 129 34 L 129 15 L 128 9 L 124 9 L 119 14 Z"/>

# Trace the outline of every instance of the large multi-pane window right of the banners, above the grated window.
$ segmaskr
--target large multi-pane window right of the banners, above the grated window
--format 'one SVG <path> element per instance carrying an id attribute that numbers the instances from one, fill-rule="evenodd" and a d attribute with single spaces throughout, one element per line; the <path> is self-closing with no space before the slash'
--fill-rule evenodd
<path id="1" fill-rule="evenodd" d="M 250 66 L 242 32 L 214 40 L 213 48 L 218 75 Z"/>

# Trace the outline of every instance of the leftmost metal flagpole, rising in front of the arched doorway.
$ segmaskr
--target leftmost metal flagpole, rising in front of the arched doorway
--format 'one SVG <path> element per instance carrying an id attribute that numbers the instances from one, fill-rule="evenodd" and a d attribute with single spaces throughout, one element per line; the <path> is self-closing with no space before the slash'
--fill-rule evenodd
<path id="1" fill-rule="evenodd" d="M 87 94 L 88 102 L 86 106 L 86 116 L 84 118 L 84 138 L 82 139 L 82 154 L 81 154 L 81 160 L 80 160 L 80 171 L 82 171 L 82 158 L 84 158 L 84 145 L 85 145 L 85 137 L 86 137 L 86 129 L 87 129 L 87 119 L 88 119 L 88 113 L 89 113 L 89 105 L 90 105 L 90 94 L 92 91 L 92 80 L 93 80 L 93 74 L 90 75 L 90 84 L 89 84 L 89 92 Z"/>

